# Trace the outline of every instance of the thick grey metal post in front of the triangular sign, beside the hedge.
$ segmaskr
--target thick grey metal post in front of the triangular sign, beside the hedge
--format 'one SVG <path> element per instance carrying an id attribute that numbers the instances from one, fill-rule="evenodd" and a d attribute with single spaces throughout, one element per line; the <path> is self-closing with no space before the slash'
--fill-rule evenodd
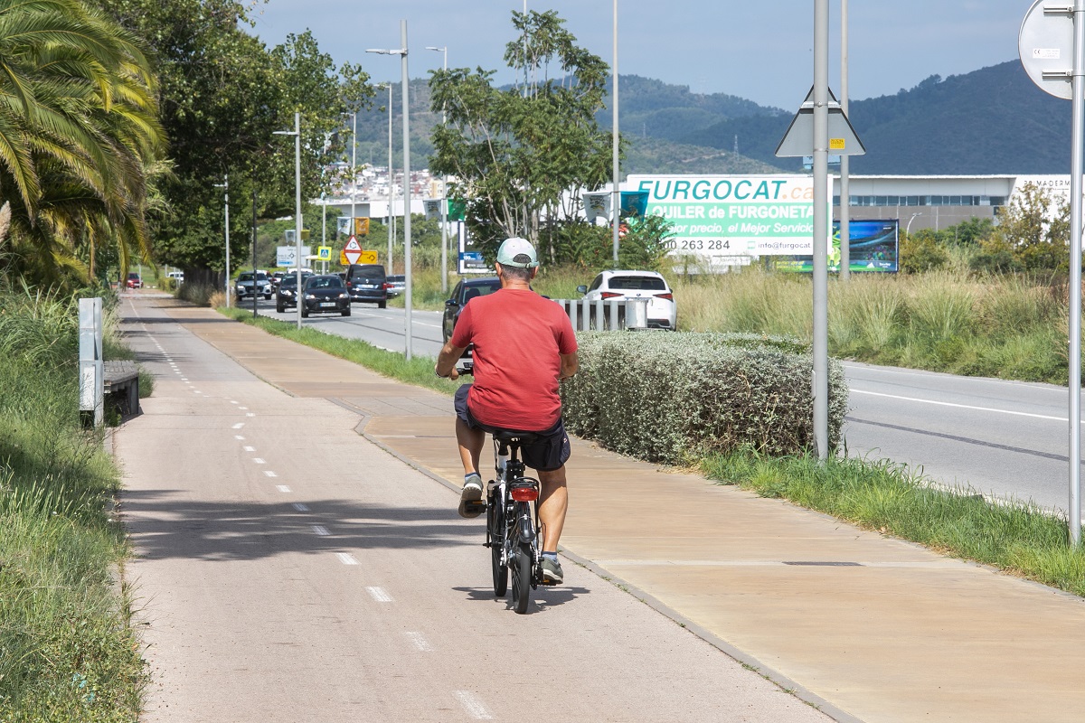
<path id="1" fill-rule="evenodd" d="M 1085 0 L 1083 0 L 1085 1 Z M 814 2 L 814 440 L 829 457 L 829 0 Z"/>

